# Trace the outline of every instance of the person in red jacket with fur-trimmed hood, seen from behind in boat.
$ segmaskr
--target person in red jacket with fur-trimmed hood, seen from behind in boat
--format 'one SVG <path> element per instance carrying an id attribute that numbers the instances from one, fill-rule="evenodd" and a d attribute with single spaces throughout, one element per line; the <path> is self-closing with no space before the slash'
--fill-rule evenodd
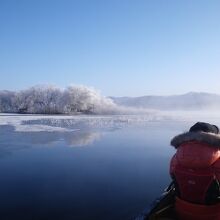
<path id="1" fill-rule="evenodd" d="M 178 219 L 220 220 L 220 135 L 216 125 L 197 122 L 175 136 L 170 175 Z"/>

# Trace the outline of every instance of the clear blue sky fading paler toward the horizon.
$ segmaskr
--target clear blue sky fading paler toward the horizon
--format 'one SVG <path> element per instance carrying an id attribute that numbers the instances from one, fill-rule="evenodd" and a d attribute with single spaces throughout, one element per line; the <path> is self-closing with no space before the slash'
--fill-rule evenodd
<path id="1" fill-rule="evenodd" d="M 220 94 L 220 1 L 0 0 L 0 90 Z"/>

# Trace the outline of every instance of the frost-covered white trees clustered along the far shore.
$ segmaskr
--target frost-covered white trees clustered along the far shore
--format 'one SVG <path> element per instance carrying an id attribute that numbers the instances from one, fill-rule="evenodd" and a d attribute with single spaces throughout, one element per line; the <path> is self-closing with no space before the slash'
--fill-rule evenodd
<path id="1" fill-rule="evenodd" d="M 60 89 L 34 86 L 26 90 L 0 91 L 0 112 L 29 114 L 102 114 L 114 111 L 116 105 L 85 86 Z"/>

